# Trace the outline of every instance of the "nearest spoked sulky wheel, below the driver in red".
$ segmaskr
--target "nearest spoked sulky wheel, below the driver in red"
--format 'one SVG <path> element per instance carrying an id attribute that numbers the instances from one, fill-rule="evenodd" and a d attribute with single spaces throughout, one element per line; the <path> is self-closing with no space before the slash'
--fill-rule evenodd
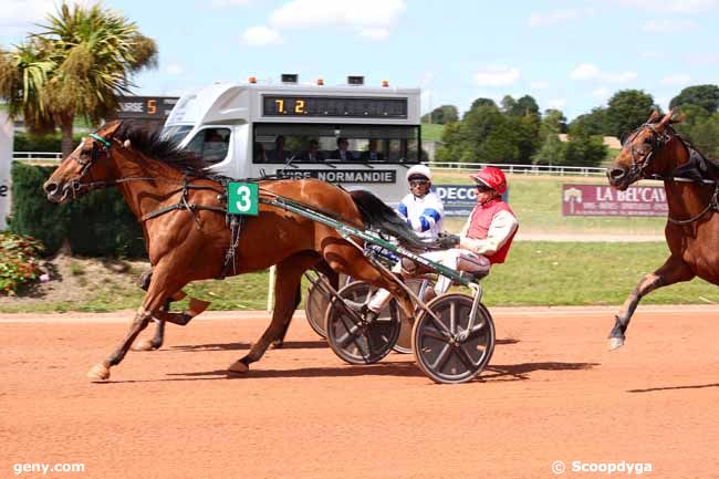
<path id="1" fill-rule="evenodd" d="M 480 304 L 467 331 L 472 299 L 442 294 L 427 304 L 439 319 L 421 312 L 415 322 L 411 346 L 417 365 L 436 383 L 466 383 L 482 372 L 494 351 L 494 323 Z"/>

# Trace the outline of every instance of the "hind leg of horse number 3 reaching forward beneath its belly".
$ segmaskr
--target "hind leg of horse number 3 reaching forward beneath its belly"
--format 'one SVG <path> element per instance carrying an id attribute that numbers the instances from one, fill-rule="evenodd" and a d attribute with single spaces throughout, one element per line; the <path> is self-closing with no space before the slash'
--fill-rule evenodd
<path id="1" fill-rule="evenodd" d="M 294 309 L 299 304 L 298 292 L 302 273 L 316 262 L 317 258 L 315 254 L 299 253 L 277 264 L 272 322 L 260 340 L 252 345 L 250 352 L 230 366 L 231 372 L 247 373 L 250 364 L 259 361 L 269 345 L 286 332 L 292 314 L 294 314 Z"/>

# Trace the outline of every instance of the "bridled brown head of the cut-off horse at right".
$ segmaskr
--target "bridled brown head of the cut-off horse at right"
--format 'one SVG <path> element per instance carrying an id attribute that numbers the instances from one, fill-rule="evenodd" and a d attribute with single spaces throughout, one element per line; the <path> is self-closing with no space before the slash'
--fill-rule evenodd
<path id="1" fill-rule="evenodd" d="M 673 115 L 674 111 L 661 116 L 655 110 L 646 123 L 627 135 L 622 152 L 606 170 L 609 185 L 624 190 L 652 175 L 671 174 L 677 165 L 671 155 L 666 154 L 665 146 L 676 138 L 671 124 L 680 121 L 673 119 Z"/>

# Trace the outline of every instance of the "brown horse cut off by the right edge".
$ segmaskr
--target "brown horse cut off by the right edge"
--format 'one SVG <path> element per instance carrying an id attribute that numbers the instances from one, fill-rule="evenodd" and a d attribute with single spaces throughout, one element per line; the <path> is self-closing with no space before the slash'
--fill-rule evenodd
<path id="1" fill-rule="evenodd" d="M 624 344 L 626 329 L 639 300 L 657 288 L 699 277 L 719 284 L 719 168 L 674 131 L 673 112 L 649 119 L 632 132 L 606 174 L 625 190 L 643 178 L 664 180 L 669 214 L 665 236 L 669 258 L 642 278 L 626 299 L 609 333 L 609 348 Z"/>

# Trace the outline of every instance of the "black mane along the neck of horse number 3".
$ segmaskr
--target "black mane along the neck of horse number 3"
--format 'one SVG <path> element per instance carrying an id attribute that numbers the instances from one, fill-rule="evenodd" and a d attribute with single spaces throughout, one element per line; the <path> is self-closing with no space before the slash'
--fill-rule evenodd
<path id="1" fill-rule="evenodd" d="M 159 131 L 150 131 L 139 124 L 123 122 L 114 136 L 121 142 L 129 139 L 131 147 L 148 158 L 192 176 L 207 176 L 204 168 L 209 165 L 200 156 L 180 148 L 177 143 L 165 138 Z"/>

